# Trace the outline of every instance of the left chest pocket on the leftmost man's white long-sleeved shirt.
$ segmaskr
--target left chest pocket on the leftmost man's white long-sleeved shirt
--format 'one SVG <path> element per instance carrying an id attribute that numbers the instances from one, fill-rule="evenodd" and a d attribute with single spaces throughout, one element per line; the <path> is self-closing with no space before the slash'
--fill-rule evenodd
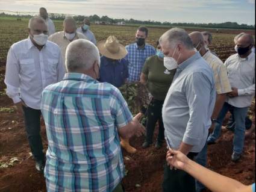
<path id="1" fill-rule="evenodd" d="M 24 80 L 30 80 L 35 75 L 35 64 L 33 58 L 20 60 L 20 75 Z"/>

